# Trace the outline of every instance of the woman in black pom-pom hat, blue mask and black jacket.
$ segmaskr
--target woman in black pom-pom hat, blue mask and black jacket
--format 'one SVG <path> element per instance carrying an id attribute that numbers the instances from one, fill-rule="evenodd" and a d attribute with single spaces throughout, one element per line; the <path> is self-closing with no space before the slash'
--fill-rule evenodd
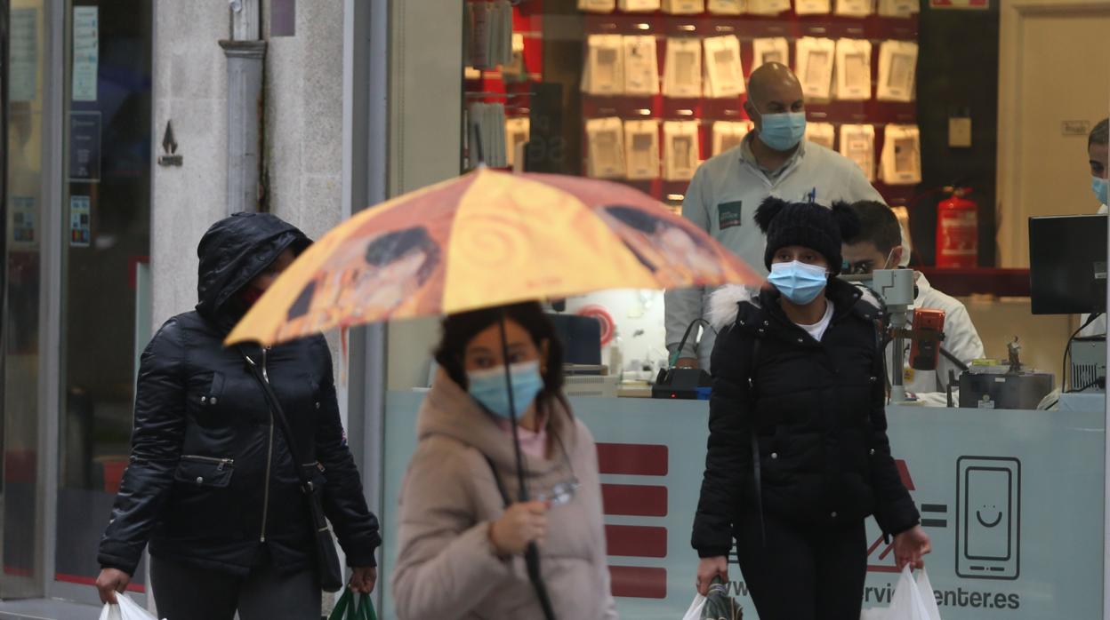
<path id="1" fill-rule="evenodd" d="M 727 580 L 736 541 L 763 620 L 858 620 L 864 520 L 894 537 L 898 567 L 921 567 L 929 537 L 890 456 L 878 309 L 838 278 L 844 204 L 768 199 L 770 286 L 710 301 L 709 441 L 693 546 L 697 587 Z"/>

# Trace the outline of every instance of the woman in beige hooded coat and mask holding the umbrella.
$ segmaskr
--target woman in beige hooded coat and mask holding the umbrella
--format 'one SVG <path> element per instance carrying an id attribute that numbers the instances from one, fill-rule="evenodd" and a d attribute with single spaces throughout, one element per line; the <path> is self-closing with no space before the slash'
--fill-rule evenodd
<path id="1" fill-rule="evenodd" d="M 448 316 L 435 359 L 401 490 L 397 616 L 542 618 L 522 558 L 536 542 L 556 618 L 616 618 L 596 447 L 562 394 L 563 350 L 539 305 Z"/>

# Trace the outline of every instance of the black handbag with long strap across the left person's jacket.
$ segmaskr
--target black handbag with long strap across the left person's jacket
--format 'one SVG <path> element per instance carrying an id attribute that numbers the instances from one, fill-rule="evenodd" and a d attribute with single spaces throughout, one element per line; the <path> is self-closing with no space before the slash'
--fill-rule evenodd
<path id="1" fill-rule="evenodd" d="M 270 379 L 262 374 L 258 364 L 243 349 L 240 349 L 239 353 L 246 360 L 246 366 L 251 369 L 251 374 L 254 375 L 259 385 L 262 386 L 266 402 L 270 403 L 270 410 L 273 414 L 274 421 L 278 424 L 278 428 L 281 429 L 282 435 L 285 436 L 285 445 L 293 457 L 296 476 L 301 479 L 301 491 L 304 492 L 305 499 L 307 499 L 309 512 L 312 515 L 313 538 L 315 539 L 316 548 L 316 575 L 320 577 L 320 588 L 325 592 L 337 592 L 343 589 L 343 569 L 340 567 L 340 557 L 335 552 L 335 543 L 332 541 L 332 531 L 329 529 L 327 519 L 324 517 L 324 504 L 320 496 L 324 489 L 314 485 L 309 475 L 305 474 L 304 467 L 299 465 L 306 461 L 296 453 L 293 430 L 289 426 L 289 420 L 285 418 L 285 411 L 281 408 L 281 403 L 278 402 L 278 395 L 274 394 L 273 387 L 270 386 Z"/>

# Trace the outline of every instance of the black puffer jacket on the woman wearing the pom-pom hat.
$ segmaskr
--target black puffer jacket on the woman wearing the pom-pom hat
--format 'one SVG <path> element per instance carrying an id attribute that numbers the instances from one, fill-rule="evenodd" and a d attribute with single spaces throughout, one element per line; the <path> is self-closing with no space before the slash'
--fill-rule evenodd
<path id="1" fill-rule="evenodd" d="M 740 515 L 756 514 L 753 429 L 766 514 L 828 528 L 874 514 L 890 535 L 917 525 L 887 439 L 878 311 L 833 278 L 833 321 L 817 342 L 787 318 L 778 291 L 744 291 L 716 294 L 731 295 L 725 305 L 736 318 L 722 325 L 713 350 L 708 454 L 694 519 L 698 555 L 726 556 Z"/>

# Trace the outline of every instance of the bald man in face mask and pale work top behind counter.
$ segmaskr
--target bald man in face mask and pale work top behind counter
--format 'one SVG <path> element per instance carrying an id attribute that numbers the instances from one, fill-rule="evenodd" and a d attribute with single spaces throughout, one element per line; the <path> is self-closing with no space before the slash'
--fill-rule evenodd
<path id="1" fill-rule="evenodd" d="M 755 130 L 736 148 L 702 164 L 683 201 L 683 216 L 714 236 L 757 271 L 764 270 L 764 235 L 753 214 L 764 199 L 790 202 L 882 201 L 851 160 L 806 142 L 806 102 L 798 78 L 784 64 L 756 69 L 748 80 L 744 110 Z M 667 349 L 682 367 L 709 369 L 716 339 L 697 329 L 679 348 L 687 327 L 703 318 L 713 291 L 668 291 L 665 297 Z"/>

